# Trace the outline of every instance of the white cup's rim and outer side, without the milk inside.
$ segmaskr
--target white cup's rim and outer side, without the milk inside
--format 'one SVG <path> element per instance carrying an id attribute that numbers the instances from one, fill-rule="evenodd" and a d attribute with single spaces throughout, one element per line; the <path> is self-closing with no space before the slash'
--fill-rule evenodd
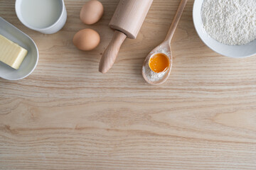
<path id="1" fill-rule="evenodd" d="M 57 1 L 57 0 L 56 0 Z M 18 19 L 23 23 L 24 26 L 30 28 L 31 30 L 36 30 L 40 33 L 45 33 L 45 34 L 53 34 L 57 33 L 63 26 L 65 25 L 65 22 L 67 21 L 67 11 L 65 8 L 64 0 L 58 0 L 58 3 L 60 3 L 60 8 L 61 8 L 61 13 L 60 16 L 58 17 L 58 20 L 53 23 L 53 25 L 48 26 L 46 28 L 35 28 L 33 26 L 30 26 L 24 18 L 21 15 L 21 3 L 22 0 L 16 0 L 15 2 L 15 11 Z"/>

